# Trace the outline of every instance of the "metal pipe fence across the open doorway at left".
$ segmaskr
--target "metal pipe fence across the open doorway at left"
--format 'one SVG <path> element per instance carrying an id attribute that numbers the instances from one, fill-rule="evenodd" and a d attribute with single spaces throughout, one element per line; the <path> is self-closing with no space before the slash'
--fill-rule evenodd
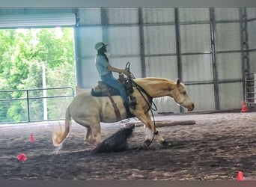
<path id="1" fill-rule="evenodd" d="M 62 120 L 71 87 L 0 91 L 0 124 Z"/>

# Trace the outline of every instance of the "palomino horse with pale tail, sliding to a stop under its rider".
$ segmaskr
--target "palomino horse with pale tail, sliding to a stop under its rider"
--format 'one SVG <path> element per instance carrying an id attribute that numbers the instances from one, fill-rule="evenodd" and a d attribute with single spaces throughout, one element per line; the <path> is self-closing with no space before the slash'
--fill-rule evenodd
<path id="1" fill-rule="evenodd" d="M 160 144 L 165 144 L 165 139 L 159 134 L 150 118 L 148 112 L 150 105 L 148 105 L 148 103 L 151 104 L 152 98 L 171 96 L 177 104 L 183 106 L 188 111 L 194 109 L 194 103 L 189 99 L 185 86 L 180 80 L 173 82 L 162 78 L 141 78 L 134 79 L 134 82 L 147 92 L 140 92 L 138 91 L 139 88 L 135 88 L 132 96 L 135 96 L 137 105 L 135 105 L 135 109 L 129 108 L 131 113 L 144 123 L 144 128 L 147 130 L 144 146 L 150 144 L 154 135 L 153 133 L 155 133 Z M 121 96 L 113 96 L 113 99 L 120 110 L 121 120 L 126 119 L 127 113 L 123 99 Z M 91 93 L 89 92 L 79 93 L 67 107 L 64 132 L 55 132 L 52 136 L 53 144 L 56 147 L 63 144 L 67 138 L 67 135 L 70 132 L 71 117 L 76 123 L 87 128 L 85 141 L 94 145 L 97 145 L 102 141 L 100 122 L 117 122 L 112 102 L 110 102 L 108 96 L 91 96 Z"/>

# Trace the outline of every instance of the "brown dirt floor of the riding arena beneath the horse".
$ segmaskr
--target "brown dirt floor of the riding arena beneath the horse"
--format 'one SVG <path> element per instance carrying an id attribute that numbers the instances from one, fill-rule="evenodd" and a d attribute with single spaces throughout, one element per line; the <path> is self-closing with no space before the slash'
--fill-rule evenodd
<path id="1" fill-rule="evenodd" d="M 256 180 L 256 113 L 158 115 L 158 120 L 195 120 L 194 125 L 159 127 L 171 145 L 156 140 L 146 150 L 144 128 L 135 127 L 129 150 L 97 153 L 84 142 L 85 128 L 73 123 L 61 150 L 52 145 L 58 123 L 0 126 L 0 180 Z M 131 118 L 130 122 L 136 122 Z M 103 139 L 123 123 L 103 123 Z M 34 135 L 34 143 L 30 135 Z M 16 156 L 25 153 L 27 160 Z"/>

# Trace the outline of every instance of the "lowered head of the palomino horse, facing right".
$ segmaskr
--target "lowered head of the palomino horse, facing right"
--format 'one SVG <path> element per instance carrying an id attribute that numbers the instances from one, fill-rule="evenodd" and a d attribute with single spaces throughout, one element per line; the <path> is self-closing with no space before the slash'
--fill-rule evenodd
<path id="1" fill-rule="evenodd" d="M 186 93 L 185 85 L 180 82 L 180 79 L 177 80 L 176 87 L 171 91 L 171 97 L 188 111 L 194 110 L 194 102 L 190 100 L 189 95 Z"/>

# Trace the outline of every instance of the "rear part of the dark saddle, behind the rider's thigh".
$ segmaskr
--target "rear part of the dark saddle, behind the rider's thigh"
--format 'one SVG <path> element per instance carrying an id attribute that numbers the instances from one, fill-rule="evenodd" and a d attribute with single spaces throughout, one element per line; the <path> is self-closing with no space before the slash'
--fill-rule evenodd
<path id="1" fill-rule="evenodd" d="M 104 82 L 99 81 L 98 85 L 95 85 L 94 88 L 91 89 L 92 96 L 118 96 L 120 95 L 119 91 L 111 86 L 107 85 Z"/>

